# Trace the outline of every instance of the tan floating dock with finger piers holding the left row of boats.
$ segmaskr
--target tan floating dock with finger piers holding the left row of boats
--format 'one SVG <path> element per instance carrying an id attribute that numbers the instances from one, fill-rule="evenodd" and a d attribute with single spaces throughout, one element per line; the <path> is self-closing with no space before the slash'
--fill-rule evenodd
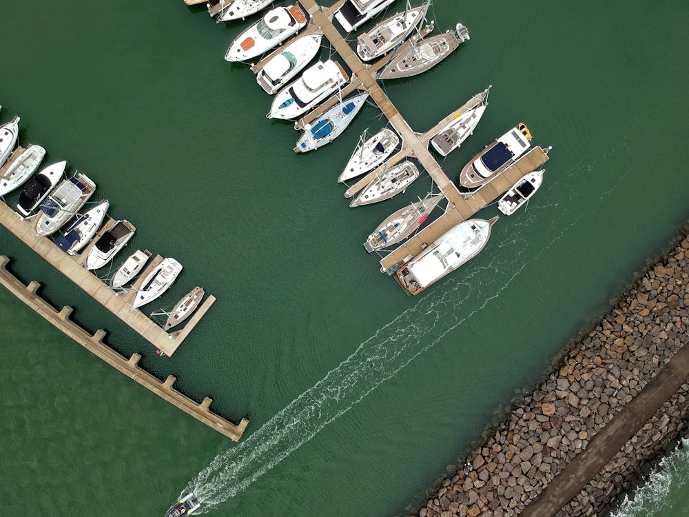
<path id="1" fill-rule="evenodd" d="M 174 354 L 176 349 L 189 335 L 189 332 L 191 332 L 196 323 L 198 323 L 200 316 L 203 316 L 203 314 L 207 312 L 216 299 L 214 296 L 208 296 L 200 307 L 198 307 L 198 314 L 196 314 L 196 317 L 187 321 L 183 330 L 169 334 L 146 314 L 132 307 L 132 300 L 135 296 L 133 290 L 130 290 L 125 296 L 120 296 L 121 292 L 112 290 L 110 286 L 101 281 L 98 276 L 83 267 L 83 261 L 85 261 L 88 250 L 94 245 L 96 238 L 91 241 L 86 250 L 75 257 L 60 250 L 49 237 L 34 236 L 33 225 L 28 221 L 23 221 L 19 217 L 19 214 L 14 212 L 14 210 L 5 203 L 0 203 L 0 223 L 10 230 L 17 239 L 28 245 L 34 252 L 43 257 L 45 261 L 48 261 L 56 270 L 81 287 L 86 294 L 103 305 L 103 307 L 112 312 L 112 314 L 117 316 L 123 323 L 129 325 L 132 330 L 137 332 L 140 336 L 145 338 L 146 341 L 151 343 L 156 349 L 161 350 L 167 356 L 172 356 L 172 354 Z M 99 232 L 99 235 L 102 235 L 103 232 L 106 231 L 107 225 L 112 224 L 114 224 L 112 219 L 107 221 L 105 227 Z M 161 258 L 158 258 L 158 262 L 160 259 Z M 147 271 L 150 271 L 151 268 L 152 265 L 149 265 Z M 141 286 L 145 273 L 146 271 L 138 277 L 138 280 L 134 283 L 134 289 Z"/>

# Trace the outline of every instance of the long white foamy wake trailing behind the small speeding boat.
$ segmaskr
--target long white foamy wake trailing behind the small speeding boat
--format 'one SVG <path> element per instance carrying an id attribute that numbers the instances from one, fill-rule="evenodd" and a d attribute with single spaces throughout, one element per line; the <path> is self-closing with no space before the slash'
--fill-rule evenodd
<path id="1" fill-rule="evenodd" d="M 526 216 L 527 222 L 537 218 L 537 210 L 531 210 L 531 214 Z M 442 290 L 436 289 L 424 297 L 423 303 L 405 310 L 380 328 L 325 378 L 289 403 L 246 440 L 218 454 L 188 483 L 183 493 L 194 492 L 202 503 L 200 513 L 236 496 L 316 436 L 323 427 L 349 411 L 378 385 L 397 374 L 416 356 L 483 310 L 529 263 L 539 259 L 563 236 L 563 232 L 558 231 L 539 252 L 526 252 L 524 250 L 528 246 L 524 244 L 532 239 L 533 234 L 531 223 L 520 230 L 524 235 L 518 242 L 513 241 L 509 253 L 496 250 L 488 265 L 469 266 L 464 275 L 455 273 L 454 278 L 444 282 Z M 485 250 L 483 255 L 486 254 L 490 256 L 491 252 Z M 512 274 L 505 281 L 504 275 L 495 275 L 496 270 L 511 271 Z M 473 296 L 477 292 L 480 292 L 482 303 L 467 303 L 470 297 L 477 298 Z"/>

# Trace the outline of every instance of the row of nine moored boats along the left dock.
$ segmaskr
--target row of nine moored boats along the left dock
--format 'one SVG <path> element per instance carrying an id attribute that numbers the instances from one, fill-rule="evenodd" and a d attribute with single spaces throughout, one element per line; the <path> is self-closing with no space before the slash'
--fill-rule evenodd
<path id="1" fill-rule="evenodd" d="M 35 236 L 57 234 L 55 244 L 73 256 L 95 239 L 85 257 L 84 267 L 95 271 L 110 264 L 132 239 L 136 227 L 126 219 L 112 221 L 96 239 L 110 202 L 107 199 L 89 201 L 96 192 L 96 184 L 78 171 L 65 178 L 66 161 L 52 163 L 39 170 L 45 156 L 45 149 L 40 145 L 29 145 L 14 156 L 12 152 L 19 139 L 19 120 L 19 116 L 15 116 L 12 121 L 0 125 L 0 196 L 22 187 L 14 209 L 21 219 L 33 225 Z M 83 207 L 88 207 L 88 210 L 79 213 Z M 123 289 L 130 285 L 150 256 L 150 252 L 136 250 L 110 277 L 110 287 Z M 143 279 L 132 305 L 141 307 L 162 296 L 181 271 L 182 265 L 176 259 L 163 259 Z M 163 329 L 169 330 L 190 316 L 204 293 L 203 287 L 194 287 L 183 296 L 172 310 L 165 313 L 167 321 Z"/>

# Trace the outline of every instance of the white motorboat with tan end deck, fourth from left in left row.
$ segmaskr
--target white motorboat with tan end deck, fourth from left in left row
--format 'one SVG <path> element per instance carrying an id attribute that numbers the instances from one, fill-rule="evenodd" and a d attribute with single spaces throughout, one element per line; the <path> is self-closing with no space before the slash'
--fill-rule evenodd
<path id="1" fill-rule="evenodd" d="M 41 214 L 36 218 L 36 236 L 50 235 L 79 212 L 83 204 L 96 192 L 96 184 L 81 172 L 65 179 L 41 203 Z"/>

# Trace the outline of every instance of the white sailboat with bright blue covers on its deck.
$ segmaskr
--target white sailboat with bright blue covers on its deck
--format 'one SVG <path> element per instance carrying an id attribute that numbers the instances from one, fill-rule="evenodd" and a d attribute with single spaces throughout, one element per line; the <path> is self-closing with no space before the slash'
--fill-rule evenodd
<path id="1" fill-rule="evenodd" d="M 308 152 L 331 143 L 345 132 L 347 126 L 364 107 L 369 94 L 366 91 L 349 97 L 349 99 L 345 99 L 327 110 L 313 123 L 308 124 L 298 139 L 294 152 Z M 295 128 L 299 129 L 297 125 Z"/>

